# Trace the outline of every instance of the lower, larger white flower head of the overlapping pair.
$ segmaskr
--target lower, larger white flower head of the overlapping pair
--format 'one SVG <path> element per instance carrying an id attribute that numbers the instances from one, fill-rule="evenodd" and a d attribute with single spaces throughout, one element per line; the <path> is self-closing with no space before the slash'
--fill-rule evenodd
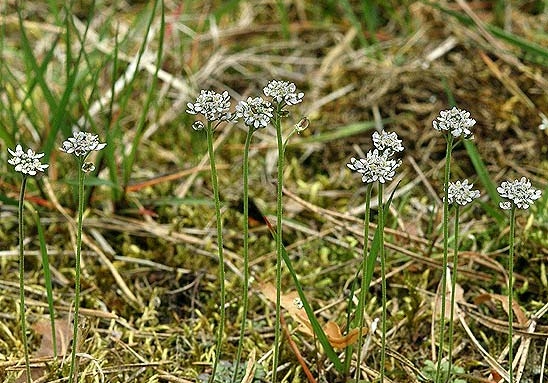
<path id="1" fill-rule="evenodd" d="M 388 153 L 380 154 L 378 149 L 369 151 L 365 158 L 351 158 L 346 166 L 362 175 L 362 182 L 372 183 L 392 181 L 396 174 L 396 169 L 401 165 L 400 160 L 394 160 Z"/>

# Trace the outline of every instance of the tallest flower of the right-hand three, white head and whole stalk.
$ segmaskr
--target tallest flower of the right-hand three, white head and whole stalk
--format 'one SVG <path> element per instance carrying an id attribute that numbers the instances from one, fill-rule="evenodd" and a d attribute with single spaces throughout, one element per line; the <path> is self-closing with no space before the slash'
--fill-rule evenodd
<path id="1" fill-rule="evenodd" d="M 438 361 L 436 366 L 436 382 L 441 379 L 441 365 L 443 356 L 443 345 L 445 340 L 445 301 L 447 294 L 447 259 L 449 249 L 449 177 L 451 173 L 451 153 L 453 151 L 454 139 L 472 139 L 474 136 L 470 130 L 476 121 L 470 118 L 470 112 L 453 107 L 449 110 L 442 110 L 433 121 L 434 129 L 445 134 L 447 147 L 445 150 L 445 168 L 443 177 L 443 262 L 441 275 L 441 316 L 440 316 L 440 340 L 438 349 Z"/>

